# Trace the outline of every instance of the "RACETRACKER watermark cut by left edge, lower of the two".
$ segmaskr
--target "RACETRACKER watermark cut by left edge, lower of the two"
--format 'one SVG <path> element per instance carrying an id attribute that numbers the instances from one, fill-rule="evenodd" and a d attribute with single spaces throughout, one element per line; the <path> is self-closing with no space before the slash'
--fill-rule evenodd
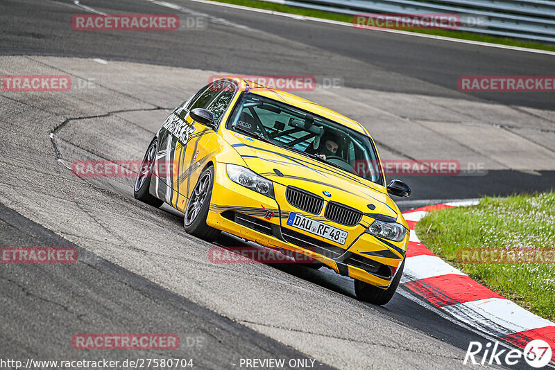
<path id="1" fill-rule="evenodd" d="M 75 263 L 74 247 L 1 247 L 1 263 Z"/>

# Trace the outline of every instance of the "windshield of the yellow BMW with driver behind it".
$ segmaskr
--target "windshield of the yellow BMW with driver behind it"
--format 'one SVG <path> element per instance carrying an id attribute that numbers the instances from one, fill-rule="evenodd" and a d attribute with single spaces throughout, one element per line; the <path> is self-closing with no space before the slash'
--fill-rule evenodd
<path id="1" fill-rule="evenodd" d="M 244 94 L 228 121 L 228 129 L 384 184 L 377 154 L 368 136 L 278 100 Z"/>

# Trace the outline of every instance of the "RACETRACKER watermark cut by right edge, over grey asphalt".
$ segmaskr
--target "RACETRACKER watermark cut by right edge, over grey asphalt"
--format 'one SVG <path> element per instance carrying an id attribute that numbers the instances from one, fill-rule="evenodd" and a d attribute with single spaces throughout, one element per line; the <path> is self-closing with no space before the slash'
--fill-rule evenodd
<path id="1" fill-rule="evenodd" d="M 462 92 L 554 92 L 555 76 L 461 76 Z"/>

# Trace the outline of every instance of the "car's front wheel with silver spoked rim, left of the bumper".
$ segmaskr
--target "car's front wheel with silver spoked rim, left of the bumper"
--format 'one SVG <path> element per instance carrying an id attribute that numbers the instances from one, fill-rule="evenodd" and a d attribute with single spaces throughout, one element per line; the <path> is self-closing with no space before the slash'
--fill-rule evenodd
<path id="1" fill-rule="evenodd" d="M 187 208 L 185 208 L 185 218 L 183 218 L 183 227 L 187 234 L 209 242 L 213 242 L 220 235 L 218 229 L 206 224 L 213 187 L 214 167 L 210 166 L 203 170 L 198 177 L 189 202 L 187 202 Z"/>

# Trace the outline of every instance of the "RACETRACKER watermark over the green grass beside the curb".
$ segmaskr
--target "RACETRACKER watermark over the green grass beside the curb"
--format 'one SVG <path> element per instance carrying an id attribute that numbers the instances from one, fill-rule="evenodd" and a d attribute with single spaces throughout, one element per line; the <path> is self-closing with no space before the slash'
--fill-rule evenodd
<path id="1" fill-rule="evenodd" d="M 473 265 L 540 265 L 555 263 L 555 249 L 549 248 L 463 248 L 459 262 Z"/>

